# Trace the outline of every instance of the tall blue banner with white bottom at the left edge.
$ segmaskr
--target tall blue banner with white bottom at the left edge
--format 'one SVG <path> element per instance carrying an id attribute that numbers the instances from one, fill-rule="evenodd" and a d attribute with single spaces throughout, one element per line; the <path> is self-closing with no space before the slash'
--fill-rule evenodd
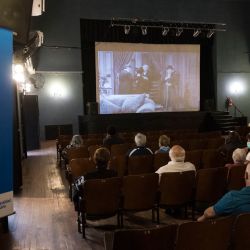
<path id="1" fill-rule="evenodd" d="M 12 32 L 0 28 L 0 218 L 13 213 Z"/>

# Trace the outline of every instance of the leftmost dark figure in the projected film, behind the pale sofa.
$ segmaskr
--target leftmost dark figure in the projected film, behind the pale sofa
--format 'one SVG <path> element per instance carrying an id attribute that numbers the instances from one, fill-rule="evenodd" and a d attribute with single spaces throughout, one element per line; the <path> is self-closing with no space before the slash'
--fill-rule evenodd
<path id="1" fill-rule="evenodd" d="M 132 93 L 134 75 L 132 68 L 126 64 L 119 74 L 119 94 L 127 95 Z"/>

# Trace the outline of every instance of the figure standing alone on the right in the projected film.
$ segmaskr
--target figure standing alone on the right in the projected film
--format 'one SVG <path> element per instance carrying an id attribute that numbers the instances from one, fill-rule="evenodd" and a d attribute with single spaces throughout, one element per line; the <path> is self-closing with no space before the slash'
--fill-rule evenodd
<path id="1" fill-rule="evenodd" d="M 179 81 L 179 73 L 175 71 L 172 65 L 168 65 L 163 78 L 164 106 L 166 110 L 172 111 L 177 109 Z"/>

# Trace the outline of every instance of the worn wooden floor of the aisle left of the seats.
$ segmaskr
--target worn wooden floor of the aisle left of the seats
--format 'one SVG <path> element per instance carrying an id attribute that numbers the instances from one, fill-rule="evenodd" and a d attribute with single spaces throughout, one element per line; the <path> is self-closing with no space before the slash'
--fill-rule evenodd
<path id="1" fill-rule="evenodd" d="M 0 235 L 0 250 L 104 249 L 103 231 L 88 229 L 83 240 L 67 197 L 63 171 L 56 164 L 55 141 L 29 152 L 23 161 L 23 188 L 15 196 L 10 233 Z"/>

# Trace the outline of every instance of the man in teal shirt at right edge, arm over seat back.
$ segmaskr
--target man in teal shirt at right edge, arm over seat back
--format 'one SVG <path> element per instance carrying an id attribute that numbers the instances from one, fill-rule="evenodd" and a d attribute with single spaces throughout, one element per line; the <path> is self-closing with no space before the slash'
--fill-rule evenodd
<path id="1" fill-rule="evenodd" d="M 250 153 L 247 158 L 250 160 Z M 250 212 L 250 163 L 245 174 L 246 187 L 226 193 L 214 206 L 207 208 L 198 221 L 214 218 L 220 215 L 240 214 Z"/>

